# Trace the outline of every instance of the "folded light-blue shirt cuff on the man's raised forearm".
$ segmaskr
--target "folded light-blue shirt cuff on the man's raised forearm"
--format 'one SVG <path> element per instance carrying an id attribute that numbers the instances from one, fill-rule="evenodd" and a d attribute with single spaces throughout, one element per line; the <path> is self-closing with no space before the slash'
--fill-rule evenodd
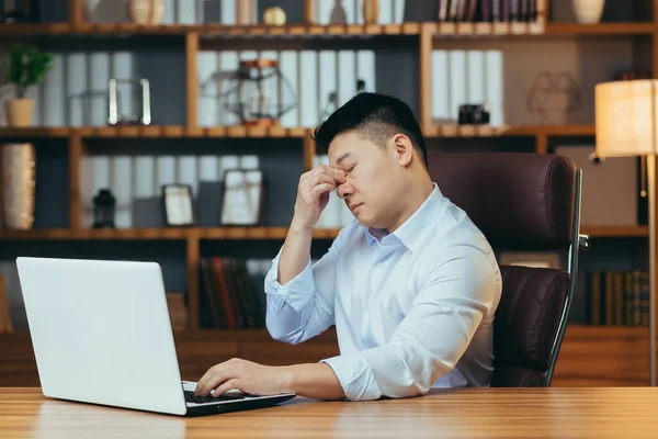
<path id="1" fill-rule="evenodd" d="M 315 292 L 315 280 L 313 277 L 313 268 L 310 264 L 310 257 L 306 262 L 304 270 L 293 278 L 288 283 L 282 285 L 279 283 L 279 261 L 281 258 L 281 251 L 272 260 L 272 268 L 268 272 L 265 278 L 265 293 L 273 297 L 281 299 L 286 302 L 296 313 L 298 313 L 313 297 Z"/>

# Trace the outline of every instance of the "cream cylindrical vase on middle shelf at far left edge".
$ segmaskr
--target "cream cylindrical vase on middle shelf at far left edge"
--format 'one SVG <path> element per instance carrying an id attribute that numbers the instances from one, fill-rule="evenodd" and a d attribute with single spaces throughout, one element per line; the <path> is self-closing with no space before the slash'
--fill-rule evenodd
<path id="1" fill-rule="evenodd" d="M 35 166 L 33 145 L 2 146 L 2 212 L 7 228 L 29 230 L 34 224 Z"/>

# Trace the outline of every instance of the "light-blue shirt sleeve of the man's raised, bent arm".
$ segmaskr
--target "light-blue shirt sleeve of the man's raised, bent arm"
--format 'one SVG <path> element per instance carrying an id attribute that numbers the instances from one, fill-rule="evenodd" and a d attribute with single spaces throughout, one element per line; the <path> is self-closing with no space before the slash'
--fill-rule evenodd
<path id="1" fill-rule="evenodd" d="M 265 325 L 275 340 L 296 345 L 333 325 L 336 261 L 343 239 L 341 230 L 320 260 L 311 264 L 309 257 L 305 269 L 285 285 L 277 279 L 283 247 L 272 260 L 264 285 Z"/>

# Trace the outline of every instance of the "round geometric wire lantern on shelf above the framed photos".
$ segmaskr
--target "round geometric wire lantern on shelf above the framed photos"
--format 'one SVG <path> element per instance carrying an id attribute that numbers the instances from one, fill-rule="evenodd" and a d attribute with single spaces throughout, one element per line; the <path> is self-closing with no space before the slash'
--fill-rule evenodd
<path id="1" fill-rule="evenodd" d="M 225 108 L 245 125 L 276 125 L 297 101 L 275 59 L 242 60 L 229 82 Z"/>

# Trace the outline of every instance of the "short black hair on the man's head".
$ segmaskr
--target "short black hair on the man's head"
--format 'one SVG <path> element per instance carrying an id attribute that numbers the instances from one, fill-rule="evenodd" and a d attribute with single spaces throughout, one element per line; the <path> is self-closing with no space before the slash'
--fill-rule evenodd
<path id="1" fill-rule="evenodd" d="M 361 92 L 318 126 L 313 138 L 320 149 L 327 149 L 333 137 L 351 130 L 382 147 L 395 134 L 404 134 L 421 154 L 426 168 L 429 168 L 428 149 L 420 125 L 409 105 L 397 98 Z"/>

